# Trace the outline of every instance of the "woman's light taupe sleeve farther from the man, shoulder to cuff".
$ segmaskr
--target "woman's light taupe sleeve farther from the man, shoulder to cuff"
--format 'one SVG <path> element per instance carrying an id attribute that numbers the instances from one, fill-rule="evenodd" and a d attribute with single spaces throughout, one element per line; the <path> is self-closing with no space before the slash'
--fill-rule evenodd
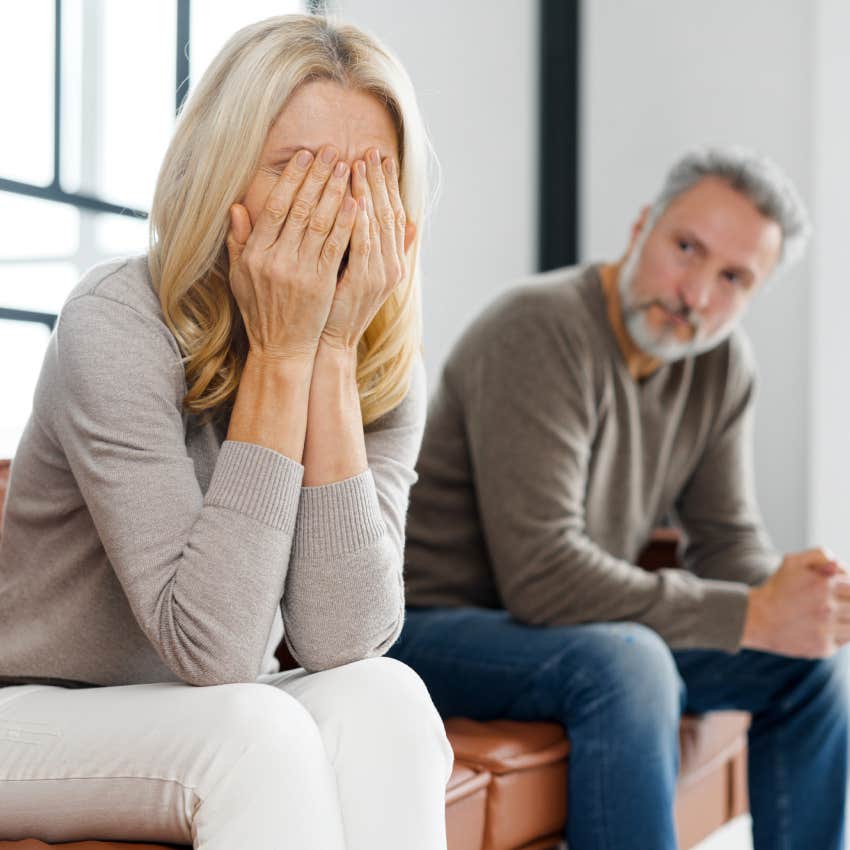
<path id="1" fill-rule="evenodd" d="M 204 495 L 185 444 L 179 352 L 108 297 L 57 327 L 52 426 L 139 626 L 195 685 L 252 681 L 283 591 L 303 468 L 225 441 Z"/>

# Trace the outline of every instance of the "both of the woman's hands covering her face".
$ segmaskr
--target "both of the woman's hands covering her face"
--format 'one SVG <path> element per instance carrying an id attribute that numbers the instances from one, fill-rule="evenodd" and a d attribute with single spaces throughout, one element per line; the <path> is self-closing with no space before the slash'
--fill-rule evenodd
<path id="1" fill-rule="evenodd" d="M 320 340 L 355 349 L 406 273 L 395 162 L 373 150 L 350 176 L 337 156 L 295 156 L 253 228 L 243 205 L 231 208 L 230 286 L 261 356 L 312 356 Z"/>

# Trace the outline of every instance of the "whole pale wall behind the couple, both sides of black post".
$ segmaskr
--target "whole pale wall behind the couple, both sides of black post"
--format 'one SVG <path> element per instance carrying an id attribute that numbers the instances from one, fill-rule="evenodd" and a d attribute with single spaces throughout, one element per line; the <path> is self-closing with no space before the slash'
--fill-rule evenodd
<path id="1" fill-rule="evenodd" d="M 333 0 L 410 72 L 443 168 L 426 231 L 433 382 L 483 305 L 536 266 L 537 3 Z M 850 559 L 850 112 L 846 0 L 584 0 L 581 258 L 611 259 L 684 148 L 738 142 L 776 159 L 810 205 L 807 260 L 746 326 L 761 373 L 760 502 L 778 546 Z M 843 190 L 841 187 L 844 187 Z"/>

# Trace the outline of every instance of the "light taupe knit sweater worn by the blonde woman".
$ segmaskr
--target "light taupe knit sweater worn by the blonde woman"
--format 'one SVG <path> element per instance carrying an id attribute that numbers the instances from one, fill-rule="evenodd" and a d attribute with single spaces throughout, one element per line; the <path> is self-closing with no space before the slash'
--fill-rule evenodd
<path id="1" fill-rule="evenodd" d="M 251 681 L 286 627 L 307 669 L 383 653 L 403 617 L 424 372 L 369 426 L 368 471 L 303 467 L 182 412 L 145 257 L 64 305 L 14 458 L 0 541 L 0 680 Z"/>

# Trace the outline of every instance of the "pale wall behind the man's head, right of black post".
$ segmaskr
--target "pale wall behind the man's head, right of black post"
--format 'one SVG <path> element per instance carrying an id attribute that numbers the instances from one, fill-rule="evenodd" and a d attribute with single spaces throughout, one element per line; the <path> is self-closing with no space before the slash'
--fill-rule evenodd
<path id="1" fill-rule="evenodd" d="M 695 144 L 758 148 L 811 204 L 814 7 L 799 0 L 712 0 L 709 13 L 691 0 L 583 4 L 583 259 L 621 252 L 666 167 Z M 762 293 L 746 320 L 761 373 L 759 499 L 785 550 L 809 538 L 812 292 L 809 259 Z"/>

